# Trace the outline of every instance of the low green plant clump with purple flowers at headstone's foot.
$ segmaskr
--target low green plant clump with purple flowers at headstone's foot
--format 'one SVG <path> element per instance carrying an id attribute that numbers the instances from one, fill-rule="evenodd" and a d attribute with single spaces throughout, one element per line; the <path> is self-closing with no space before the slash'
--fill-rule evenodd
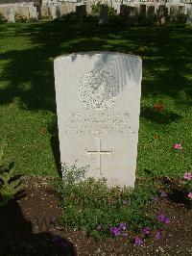
<path id="1" fill-rule="evenodd" d="M 54 185 L 60 194 L 62 214 L 58 224 L 84 231 L 96 239 L 128 237 L 140 245 L 148 237 L 160 239 L 170 220 L 158 212 L 156 180 L 132 188 L 108 188 L 106 179 L 84 179 L 86 168 L 62 166 L 64 180 Z M 74 173 L 74 174 L 73 174 Z M 157 189 L 158 188 L 158 189 Z"/>

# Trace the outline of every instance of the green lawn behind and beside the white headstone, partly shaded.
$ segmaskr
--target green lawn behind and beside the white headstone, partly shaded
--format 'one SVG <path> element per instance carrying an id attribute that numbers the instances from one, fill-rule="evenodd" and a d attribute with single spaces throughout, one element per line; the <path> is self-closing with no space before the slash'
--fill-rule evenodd
<path id="1" fill-rule="evenodd" d="M 58 175 L 54 58 L 108 50 L 143 60 L 137 175 L 178 176 L 192 166 L 192 33 L 164 28 L 40 22 L 0 24 L 0 138 L 18 172 Z M 163 112 L 153 109 L 165 106 Z M 154 135 L 159 139 L 154 139 Z M 182 143 L 174 151 L 172 144 Z"/>

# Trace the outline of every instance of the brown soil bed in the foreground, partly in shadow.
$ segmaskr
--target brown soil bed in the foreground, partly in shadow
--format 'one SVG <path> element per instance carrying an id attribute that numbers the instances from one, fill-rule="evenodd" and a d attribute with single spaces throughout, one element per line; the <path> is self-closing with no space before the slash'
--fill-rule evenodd
<path id="1" fill-rule="evenodd" d="M 160 201 L 170 223 L 162 238 L 140 246 L 132 238 L 97 242 L 84 232 L 57 226 L 59 195 L 47 178 L 24 180 L 22 196 L 0 208 L 0 255 L 192 255 L 192 209 L 168 199 Z"/>

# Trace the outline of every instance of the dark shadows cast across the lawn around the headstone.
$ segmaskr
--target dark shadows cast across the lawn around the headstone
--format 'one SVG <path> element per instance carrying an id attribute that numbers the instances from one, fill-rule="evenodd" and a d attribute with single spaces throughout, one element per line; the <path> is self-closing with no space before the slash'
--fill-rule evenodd
<path id="1" fill-rule="evenodd" d="M 4 60 L 0 82 L 0 104 L 10 104 L 16 98 L 20 108 L 56 113 L 54 88 L 54 58 L 72 52 L 115 51 L 140 55 L 143 60 L 142 96 L 168 96 L 180 108 L 192 105 L 192 34 L 184 25 L 167 27 L 99 27 L 96 22 L 41 22 L 1 24 L 4 33 L 12 37 L 11 50 L 0 53 Z M 13 38 L 25 38 L 30 47 L 14 49 Z M 22 40 L 21 40 L 22 44 Z M 74 72 L 75 75 L 75 72 Z M 143 108 L 141 116 L 167 124 L 180 119 L 171 112 L 152 113 Z M 51 141 L 59 166 L 57 122 L 51 129 Z"/>

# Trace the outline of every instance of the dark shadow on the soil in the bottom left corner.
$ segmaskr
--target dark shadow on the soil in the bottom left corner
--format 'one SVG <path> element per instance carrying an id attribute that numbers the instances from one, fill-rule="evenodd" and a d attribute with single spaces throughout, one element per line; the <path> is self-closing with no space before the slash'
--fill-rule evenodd
<path id="1" fill-rule="evenodd" d="M 1 255 L 77 255 L 68 240 L 50 232 L 34 234 L 15 200 L 0 208 Z"/>

